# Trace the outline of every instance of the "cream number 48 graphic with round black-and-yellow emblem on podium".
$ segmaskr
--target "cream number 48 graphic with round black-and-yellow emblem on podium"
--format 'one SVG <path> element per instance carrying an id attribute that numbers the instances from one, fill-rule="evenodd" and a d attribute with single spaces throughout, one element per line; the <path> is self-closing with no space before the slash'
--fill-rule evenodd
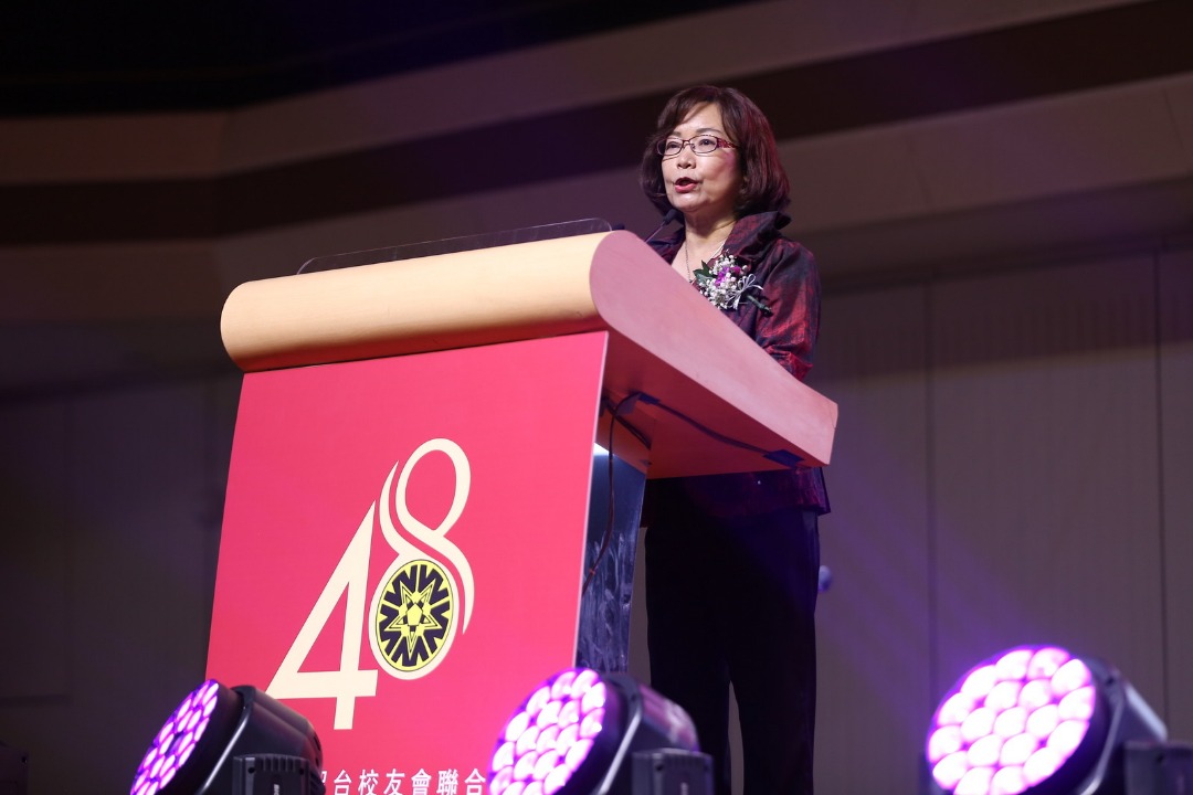
<path id="1" fill-rule="evenodd" d="M 451 508 L 434 528 L 410 515 L 406 499 L 410 472 L 424 455 L 433 452 L 451 459 L 456 476 Z M 395 474 L 398 476 L 396 489 Z M 357 698 L 377 695 L 377 669 L 360 667 L 361 635 L 366 626 L 373 658 L 379 669 L 390 676 L 416 678 L 426 676 L 439 664 L 456 635 L 457 623 L 460 631 L 468 627 L 472 608 L 472 574 L 468 559 L 445 538 L 464 510 L 470 486 L 468 456 L 459 445 L 447 439 L 433 439 L 421 445 L 410 454 L 401 473 L 397 472 L 397 464 L 394 465 L 385 478 L 381 498 L 369 508 L 348 541 L 266 692 L 274 698 L 334 698 L 334 727 L 351 729 Z M 452 563 L 459 572 L 464 591 L 463 622 L 457 620 L 459 588 L 455 578 L 398 533 L 390 518 L 390 501 L 402 528 Z M 365 614 L 365 596 L 375 520 L 396 557 L 373 592 L 370 621 Z M 345 592 L 340 667 L 334 671 L 301 670 Z"/>

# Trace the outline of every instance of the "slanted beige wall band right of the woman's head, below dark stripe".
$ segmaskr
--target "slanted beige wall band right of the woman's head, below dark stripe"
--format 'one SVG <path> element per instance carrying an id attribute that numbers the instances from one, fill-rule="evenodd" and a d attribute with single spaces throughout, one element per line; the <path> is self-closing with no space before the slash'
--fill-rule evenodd
<path id="1" fill-rule="evenodd" d="M 835 255 L 827 273 L 1155 236 L 1189 212 L 1193 77 L 789 141 L 780 155 L 791 215 Z"/>

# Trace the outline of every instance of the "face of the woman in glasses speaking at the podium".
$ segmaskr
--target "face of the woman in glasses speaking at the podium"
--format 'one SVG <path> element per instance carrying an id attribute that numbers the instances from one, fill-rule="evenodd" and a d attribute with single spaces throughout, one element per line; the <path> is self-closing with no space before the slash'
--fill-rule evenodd
<path id="1" fill-rule="evenodd" d="M 731 139 L 721 119 L 721 108 L 713 103 L 693 107 L 669 137 L 687 139 L 701 135 Z M 717 225 L 734 217 L 742 185 L 736 149 L 722 147 L 707 155 L 697 155 L 685 145 L 678 155 L 663 157 L 662 169 L 667 200 L 690 223 Z"/>

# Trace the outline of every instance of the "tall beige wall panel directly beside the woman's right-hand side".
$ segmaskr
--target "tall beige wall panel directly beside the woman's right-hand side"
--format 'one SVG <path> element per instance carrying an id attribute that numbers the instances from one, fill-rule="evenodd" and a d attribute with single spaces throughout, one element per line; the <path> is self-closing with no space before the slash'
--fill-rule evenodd
<path id="1" fill-rule="evenodd" d="M 933 698 L 925 333 L 922 287 L 823 305 L 809 383 L 840 421 L 821 521 L 818 791 L 915 791 Z"/>

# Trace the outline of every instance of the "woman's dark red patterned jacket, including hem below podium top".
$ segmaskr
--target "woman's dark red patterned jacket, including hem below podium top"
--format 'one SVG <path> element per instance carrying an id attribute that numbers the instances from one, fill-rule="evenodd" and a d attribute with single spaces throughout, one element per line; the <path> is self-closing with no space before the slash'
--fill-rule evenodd
<path id="1" fill-rule="evenodd" d="M 812 366 L 820 333 L 820 274 L 811 251 L 779 232 L 790 221 L 781 212 L 737 219 L 722 251 L 749 266 L 749 272 L 762 286 L 762 303 L 769 313 L 747 300 L 735 310 L 722 311 L 787 372 L 803 380 Z M 675 259 L 682 244 L 682 229 L 673 237 L 650 242 L 668 262 Z M 676 487 L 701 510 L 717 516 L 753 515 L 783 508 L 804 508 L 818 514 L 829 510 L 824 474 L 820 468 L 675 478 L 666 485 L 660 483 L 654 491 L 667 492 Z M 653 504 L 650 508 L 660 507 Z"/>

